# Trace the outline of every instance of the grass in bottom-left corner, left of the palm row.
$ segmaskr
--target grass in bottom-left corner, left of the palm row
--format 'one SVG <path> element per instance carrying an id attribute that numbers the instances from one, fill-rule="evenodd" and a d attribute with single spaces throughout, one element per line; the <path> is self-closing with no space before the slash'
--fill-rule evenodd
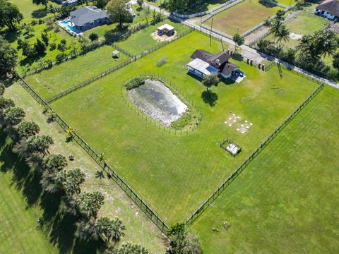
<path id="1" fill-rule="evenodd" d="M 39 207 L 29 207 L 16 185 L 13 171 L 25 166 L 11 155 L 11 140 L 0 134 L 0 253 L 58 253 L 46 234 L 37 228 Z"/>

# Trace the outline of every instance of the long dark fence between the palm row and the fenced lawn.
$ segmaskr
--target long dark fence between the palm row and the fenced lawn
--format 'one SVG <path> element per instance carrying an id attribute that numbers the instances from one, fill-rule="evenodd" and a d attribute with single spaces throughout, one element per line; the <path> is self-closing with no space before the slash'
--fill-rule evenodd
<path id="1" fill-rule="evenodd" d="M 47 107 L 50 111 L 54 112 L 54 121 L 56 121 L 59 126 L 64 130 L 68 131 L 71 126 L 69 126 L 64 119 L 61 118 L 53 109 L 52 107 L 49 106 L 49 104 L 40 97 L 40 95 L 35 92 L 35 90 L 28 85 L 28 83 L 23 80 L 23 78 L 20 78 L 20 85 L 25 88 L 25 90 L 28 91 L 30 95 L 39 103 L 42 105 L 42 107 Z M 105 161 L 100 159 L 100 155 L 93 150 L 88 143 L 83 140 L 83 138 L 80 137 L 76 132 L 73 131 L 73 140 L 80 145 L 85 152 L 92 157 L 95 162 L 104 170 L 107 174 L 111 176 L 111 179 L 113 179 L 119 186 L 120 188 L 133 200 L 133 202 L 138 205 L 138 207 L 146 214 L 146 216 L 152 220 L 152 222 L 164 233 L 167 234 L 167 229 L 169 226 L 165 224 L 165 222 L 157 215 L 153 209 L 146 204 L 146 202 L 135 192 L 133 189 L 129 186 L 128 183 L 124 181 L 124 179 L 121 179 L 121 177 L 117 174 L 112 167 L 110 167 Z"/>

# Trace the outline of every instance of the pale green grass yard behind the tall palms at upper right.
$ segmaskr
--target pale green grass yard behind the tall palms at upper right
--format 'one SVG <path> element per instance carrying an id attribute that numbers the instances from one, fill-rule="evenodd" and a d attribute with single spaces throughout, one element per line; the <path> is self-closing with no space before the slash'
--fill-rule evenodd
<path id="1" fill-rule="evenodd" d="M 294 20 L 286 23 L 291 33 L 295 35 L 309 35 L 317 30 L 322 30 L 326 25 L 331 23 L 327 18 L 314 15 L 314 8 L 316 8 L 316 4 L 305 8 Z M 268 35 L 265 39 L 273 40 L 273 35 Z M 290 38 L 290 40 L 283 42 L 283 44 L 285 47 L 295 48 L 299 44 L 299 40 Z"/>

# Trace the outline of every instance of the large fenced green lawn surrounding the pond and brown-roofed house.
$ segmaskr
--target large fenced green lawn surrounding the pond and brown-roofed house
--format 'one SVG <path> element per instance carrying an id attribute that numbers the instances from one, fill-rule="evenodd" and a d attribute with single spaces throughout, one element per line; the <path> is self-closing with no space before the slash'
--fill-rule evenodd
<path id="1" fill-rule="evenodd" d="M 186 74 L 184 65 L 195 49 L 220 51 L 220 43 L 212 42 L 210 47 L 206 35 L 193 32 L 52 103 L 95 150 L 105 152 L 107 162 L 169 223 L 182 221 L 196 210 L 317 86 L 287 71 L 280 78 L 276 67 L 262 72 L 233 60 L 247 78 L 239 84 L 212 87 L 218 99 L 210 106 L 213 102 L 204 96 L 205 87 Z M 164 56 L 168 62 L 156 67 Z M 124 81 L 150 72 L 165 75 L 201 108 L 203 121 L 198 130 L 167 133 L 126 107 L 121 98 Z M 232 113 L 253 123 L 249 133 L 241 134 L 224 123 Z M 243 148 L 236 158 L 220 148 L 227 137 Z"/>

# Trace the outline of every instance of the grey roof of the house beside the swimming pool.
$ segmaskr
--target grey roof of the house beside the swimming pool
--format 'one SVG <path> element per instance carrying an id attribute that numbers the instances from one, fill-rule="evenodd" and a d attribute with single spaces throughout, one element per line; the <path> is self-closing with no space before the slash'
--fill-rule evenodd
<path id="1" fill-rule="evenodd" d="M 96 6 L 85 6 L 78 8 L 76 11 L 71 11 L 71 19 L 69 21 L 80 26 L 100 18 L 108 18 L 107 11 L 102 11 Z"/>

